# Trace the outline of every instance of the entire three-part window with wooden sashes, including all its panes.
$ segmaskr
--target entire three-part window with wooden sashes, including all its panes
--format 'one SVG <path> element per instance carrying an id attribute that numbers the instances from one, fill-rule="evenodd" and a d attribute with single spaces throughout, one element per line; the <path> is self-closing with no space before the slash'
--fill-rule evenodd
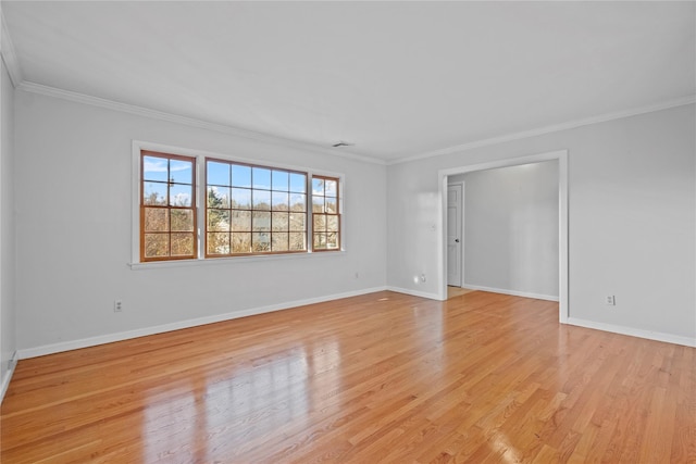
<path id="1" fill-rule="evenodd" d="M 134 142 L 134 262 L 341 249 L 340 177 L 166 151 Z"/>

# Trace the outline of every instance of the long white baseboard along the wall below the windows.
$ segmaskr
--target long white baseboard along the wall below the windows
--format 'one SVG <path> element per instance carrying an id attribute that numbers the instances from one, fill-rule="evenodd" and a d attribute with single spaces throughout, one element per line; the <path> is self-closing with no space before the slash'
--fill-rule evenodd
<path id="1" fill-rule="evenodd" d="M 96 347 L 98 344 L 112 343 L 114 341 L 128 340 L 128 339 L 138 338 L 138 337 L 146 337 L 148 335 L 163 334 L 165 331 L 179 330 L 183 328 L 189 328 L 189 327 L 196 327 L 199 325 L 236 319 L 239 317 L 270 313 L 273 311 L 289 310 L 293 308 L 304 306 L 307 304 L 323 303 L 325 301 L 339 300 L 341 298 L 358 297 L 361 294 L 374 293 L 376 291 L 383 291 L 386 289 L 387 289 L 386 287 L 366 288 L 362 290 L 348 291 L 345 293 L 328 294 L 324 297 L 309 298 L 306 300 L 289 301 L 286 303 L 272 304 L 269 306 L 235 311 L 233 313 L 215 314 L 212 316 L 179 321 L 179 322 L 170 323 L 170 324 L 162 324 L 158 326 L 138 328 L 134 330 L 121 331 L 115 334 L 107 334 L 107 335 L 101 335 L 97 337 L 83 338 L 78 340 L 62 341 L 60 343 L 44 344 L 35 348 L 24 348 L 18 350 L 18 358 L 21 360 L 26 360 L 29 358 L 44 356 L 46 354 L 54 354 L 63 351 L 78 350 L 80 348 Z"/>

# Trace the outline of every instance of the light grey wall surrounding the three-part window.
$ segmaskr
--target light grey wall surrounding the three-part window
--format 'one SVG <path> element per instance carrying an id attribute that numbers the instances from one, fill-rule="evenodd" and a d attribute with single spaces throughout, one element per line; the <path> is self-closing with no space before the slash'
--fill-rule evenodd
<path id="1" fill-rule="evenodd" d="M 22 355 L 386 285 L 383 165 L 26 91 L 15 124 Z M 347 251 L 132 269 L 133 139 L 343 173 Z"/>

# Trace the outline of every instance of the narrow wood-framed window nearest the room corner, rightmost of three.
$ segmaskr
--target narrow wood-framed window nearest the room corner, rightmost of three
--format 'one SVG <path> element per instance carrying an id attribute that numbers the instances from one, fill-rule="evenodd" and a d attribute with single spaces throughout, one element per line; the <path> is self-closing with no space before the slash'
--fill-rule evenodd
<path id="1" fill-rule="evenodd" d="M 339 179 L 312 176 L 312 249 L 340 250 Z"/>

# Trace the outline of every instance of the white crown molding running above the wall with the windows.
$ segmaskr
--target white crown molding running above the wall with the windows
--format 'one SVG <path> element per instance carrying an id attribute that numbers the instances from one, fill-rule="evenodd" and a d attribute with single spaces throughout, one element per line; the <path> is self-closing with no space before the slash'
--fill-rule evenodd
<path id="1" fill-rule="evenodd" d="M 312 151 L 315 153 L 328 154 L 332 156 L 346 158 L 353 161 L 360 161 L 363 163 L 386 165 L 386 161 L 365 156 L 362 154 L 351 153 L 349 151 L 340 150 L 334 151 L 324 147 L 320 147 L 312 143 L 291 140 L 283 137 L 272 136 L 268 134 L 261 134 L 253 130 L 240 129 L 224 124 L 211 123 L 208 121 L 196 120 L 192 117 L 182 116 L 178 114 L 166 113 L 163 111 L 151 110 L 149 108 L 137 106 L 128 103 L 121 103 L 114 100 L 108 100 L 99 97 L 92 97 L 85 93 L 74 92 L 71 90 L 63 90 L 55 87 L 45 86 L 41 84 L 30 83 L 27 80 L 21 81 L 17 89 L 24 90 L 30 93 L 38 93 L 48 97 L 60 98 L 62 100 L 70 100 L 77 103 L 88 104 L 92 106 L 104 108 L 108 110 L 119 111 L 122 113 L 135 114 L 138 116 L 149 117 L 153 120 L 166 121 L 170 123 L 177 123 L 189 127 L 196 127 L 201 129 L 213 130 L 216 133 L 228 134 L 236 137 L 261 141 L 265 143 L 277 145 L 286 148 L 295 148 L 298 150 Z"/>

